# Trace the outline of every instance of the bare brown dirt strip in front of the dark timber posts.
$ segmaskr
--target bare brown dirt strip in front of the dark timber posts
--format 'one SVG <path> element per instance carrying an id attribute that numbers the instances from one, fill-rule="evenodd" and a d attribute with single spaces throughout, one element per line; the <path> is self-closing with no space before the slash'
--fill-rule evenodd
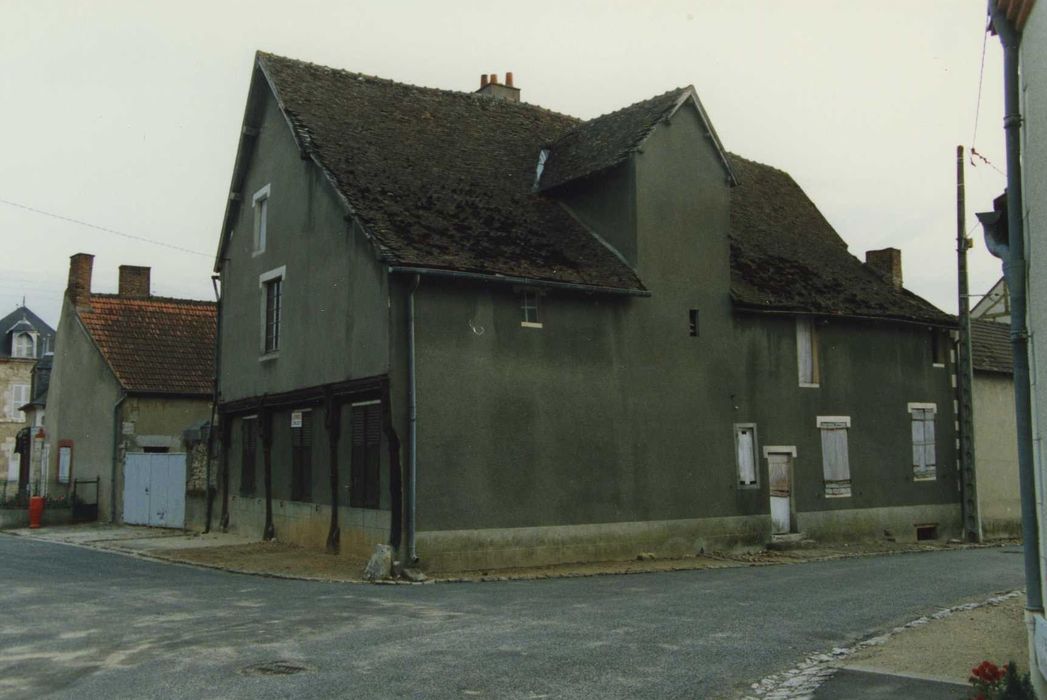
<path id="1" fill-rule="evenodd" d="M 193 547 L 155 552 L 159 559 L 184 564 L 325 581 L 362 581 L 366 559 L 329 555 L 284 542 L 253 542 L 216 547 Z"/>

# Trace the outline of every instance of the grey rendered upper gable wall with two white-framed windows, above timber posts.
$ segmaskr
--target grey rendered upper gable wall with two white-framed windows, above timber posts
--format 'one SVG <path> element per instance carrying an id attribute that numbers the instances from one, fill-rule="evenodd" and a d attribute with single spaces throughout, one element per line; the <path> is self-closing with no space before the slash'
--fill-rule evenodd
<path id="1" fill-rule="evenodd" d="M 384 269 L 322 173 L 304 160 L 268 93 L 222 268 L 221 400 L 277 393 L 388 369 Z M 253 251 L 251 207 L 270 186 L 268 242 Z M 261 274 L 286 267 L 279 357 L 261 360 Z"/>

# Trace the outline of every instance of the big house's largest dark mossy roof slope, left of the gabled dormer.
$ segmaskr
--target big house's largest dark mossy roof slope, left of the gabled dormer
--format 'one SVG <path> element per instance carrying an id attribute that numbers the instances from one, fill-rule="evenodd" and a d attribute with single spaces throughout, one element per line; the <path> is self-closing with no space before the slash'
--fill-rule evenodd
<path id="1" fill-rule="evenodd" d="M 643 290 L 554 199 L 541 144 L 577 119 L 259 53 L 299 145 L 395 265 Z"/>

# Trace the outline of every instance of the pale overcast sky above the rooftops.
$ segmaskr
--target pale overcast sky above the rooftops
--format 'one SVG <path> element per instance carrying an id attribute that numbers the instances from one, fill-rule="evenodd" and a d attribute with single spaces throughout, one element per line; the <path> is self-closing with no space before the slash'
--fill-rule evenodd
<path id="1" fill-rule="evenodd" d="M 0 315 L 24 297 L 57 324 L 76 252 L 95 292 L 126 264 L 214 298 L 255 50 L 463 91 L 512 71 L 582 118 L 693 85 L 729 151 L 787 171 L 860 258 L 900 248 L 955 313 L 957 145 L 988 160 L 966 164 L 972 293 L 1001 275 L 974 217 L 1005 184 L 985 24 L 984 0 L 0 0 Z"/>

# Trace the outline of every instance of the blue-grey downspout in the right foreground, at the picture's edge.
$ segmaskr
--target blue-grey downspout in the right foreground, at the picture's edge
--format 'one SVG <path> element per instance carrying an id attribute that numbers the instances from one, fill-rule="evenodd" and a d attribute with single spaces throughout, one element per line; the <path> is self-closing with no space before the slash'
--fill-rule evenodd
<path id="1" fill-rule="evenodd" d="M 989 2 L 993 27 L 1003 44 L 1003 129 L 1007 145 L 1007 251 L 1003 276 L 1010 291 L 1010 343 L 1015 355 L 1015 419 L 1018 427 L 1018 476 L 1022 494 L 1022 540 L 1025 545 L 1025 609 L 1043 613 L 1040 535 L 1037 523 L 1035 473 L 1032 464 L 1032 410 L 1029 386 L 1029 334 L 1026 326 L 1025 231 L 1022 227 L 1022 163 L 1019 36 L 1006 13 Z"/>

